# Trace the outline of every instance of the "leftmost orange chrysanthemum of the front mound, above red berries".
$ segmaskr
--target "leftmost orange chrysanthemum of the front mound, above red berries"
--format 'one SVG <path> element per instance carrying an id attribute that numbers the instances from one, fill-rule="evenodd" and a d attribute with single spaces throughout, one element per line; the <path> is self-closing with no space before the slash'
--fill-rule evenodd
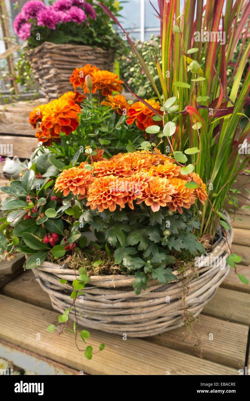
<path id="1" fill-rule="evenodd" d="M 72 167 L 69 170 L 63 170 L 59 177 L 56 178 L 54 188 L 56 192 L 59 190 L 67 196 L 69 192 L 73 195 L 81 195 L 79 198 L 87 196 L 87 188 L 93 182 L 91 171 L 85 168 Z"/>

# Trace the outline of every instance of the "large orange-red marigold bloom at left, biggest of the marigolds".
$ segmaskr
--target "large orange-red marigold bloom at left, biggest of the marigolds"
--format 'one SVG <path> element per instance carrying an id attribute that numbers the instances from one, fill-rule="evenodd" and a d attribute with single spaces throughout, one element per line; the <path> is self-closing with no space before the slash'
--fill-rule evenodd
<path id="1" fill-rule="evenodd" d="M 69 135 L 79 126 L 81 109 L 72 99 L 55 99 L 44 107 L 42 112 L 42 131 L 49 131 L 50 136 L 58 136 L 60 132 Z"/>

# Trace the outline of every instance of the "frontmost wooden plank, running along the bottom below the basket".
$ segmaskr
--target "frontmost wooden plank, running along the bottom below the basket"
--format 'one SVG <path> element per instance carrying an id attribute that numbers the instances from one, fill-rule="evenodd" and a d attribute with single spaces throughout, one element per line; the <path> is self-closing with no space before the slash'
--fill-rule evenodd
<path id="1" fill-rule="evenodd" d="M 77 350 L 72 334 L 65 332 L 58 337 L 46 331 L 48 324 L 56 323 L 58 313 L 4 295 L 0 295 L 0 302 L 4 305 L 0 338 L 79 371 L 108 375 L 166 375 L 167 371 L 171 375 L 238 375 L 237 369 L 171 348 L 146 345 L 137 338 L 123 340 L 122 336 L 95 330 L 91 330 L 89 344 L 95 352 L 103 342 L 105 350 L 87 360 Z M 36 340 L 37 333 L 40 333 L 40 340 Z M 241 338 L 241 334 L 239 332 L 237 338 Z"/>

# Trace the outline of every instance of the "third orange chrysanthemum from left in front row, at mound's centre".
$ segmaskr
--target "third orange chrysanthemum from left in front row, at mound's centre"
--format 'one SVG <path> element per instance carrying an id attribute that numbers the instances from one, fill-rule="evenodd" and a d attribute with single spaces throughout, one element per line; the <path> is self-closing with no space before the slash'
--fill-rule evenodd
<path id="1" fill-rule="evenodd" d="M 149 177 L 146 172 L 139 172 L 130 177 L 120 179 L 119 189 L 125 192 L 123 201 L 124 203 L 128 203 L 130 209 L 134 209 L 133 201 L 141 198 L 145 192 L 145 188 L 148 186 L 147 183 L 151 180 L 153 180 L 153 177 Z"/>

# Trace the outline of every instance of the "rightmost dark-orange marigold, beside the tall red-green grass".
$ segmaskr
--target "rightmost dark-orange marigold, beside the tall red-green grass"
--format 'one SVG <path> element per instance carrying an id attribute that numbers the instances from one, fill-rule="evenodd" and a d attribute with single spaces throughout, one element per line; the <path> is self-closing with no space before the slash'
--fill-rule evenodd
<path id="1" fill-rule="evenodd" d="M 154 109 L 160 111 L 161 105 L 158 101 L 153 100 L 147 100 L 144 99 L 147 103 L 149 103 Z M 127 112 L 127 124 L 131 125 L 134 121 L 137 125 L 137 127 L 140 130 L 145 131 L 147 127 L 151 125 L 155 125 L 157 123 L 161 124 L 161 122 L 153 121 L 152 117 L 155 115 L 155 113 L 149 109 L 144 103 L 141 101 L 137 101 L 132 104 L 131 107 L 129 107 L 128 112 Z"/>

